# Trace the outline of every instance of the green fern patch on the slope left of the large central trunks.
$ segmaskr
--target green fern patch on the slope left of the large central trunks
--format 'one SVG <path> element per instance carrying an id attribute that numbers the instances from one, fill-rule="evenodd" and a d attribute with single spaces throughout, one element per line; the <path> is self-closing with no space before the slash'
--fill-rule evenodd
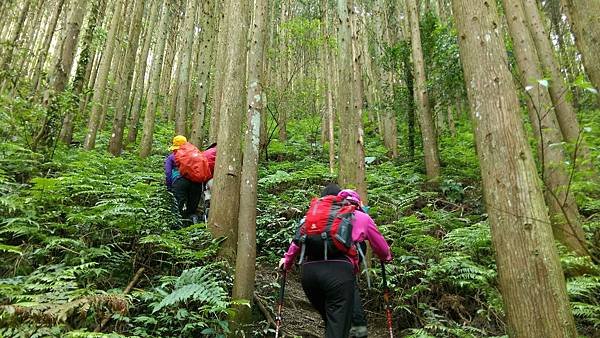
<path id="1" fill-rule="evenodd" d="M 92 336 L 105 316 L 119 332 L 138 336 L 227 332 L 231 280 L 209 273 L 216 263 L 190 269 L 214 262 L 220 240 L 203 224 L 171 230 L 178 219 L 163 187 L 162 156 L 113 158 L 59 148 L 52 162 L 43 162 L 14 144 L 0 143 L 0 150 L 7 163 L 0 175 L 6 183 L 0 198 L 6 215 L 0 220 L 0 334 Z M 124 288 L 140 264 L 148 280 L 138 285 L 147 288 L 156 279 L 162 286 L 130 295 L 115 289 Z M 169 277 L 186 268 L 179 278 Z M 185 290 L 190 293 L 182 296 Z M 132 321 L 134 328 L 125 325 Z M 154 332 L 158 322 L 160 333 Z"/>

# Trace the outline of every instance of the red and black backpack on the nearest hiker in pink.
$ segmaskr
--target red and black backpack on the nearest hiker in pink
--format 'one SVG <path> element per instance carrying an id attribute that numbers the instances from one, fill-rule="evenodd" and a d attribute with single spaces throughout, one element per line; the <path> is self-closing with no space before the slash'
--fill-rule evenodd
<path id="1" fill-rule="evenodd" d="M 294 242 L 302 246 L 300 261 L 356 257 L 352 218 L 356 206 L 338 196 L 314 198 Z"/>

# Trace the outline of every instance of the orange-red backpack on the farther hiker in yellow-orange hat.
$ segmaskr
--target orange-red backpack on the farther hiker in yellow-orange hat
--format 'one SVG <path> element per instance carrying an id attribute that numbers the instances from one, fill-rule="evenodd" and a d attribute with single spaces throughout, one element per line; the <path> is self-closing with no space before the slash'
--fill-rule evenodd
<path id="1" fill-rule="evenodd" d="M 212 161 L 209 161 L 195 145 L 189 142 L 175 151 L 175 163 L 181 176 L 197 183 L 204 183 L 212 178 L 215 166 L 212 153 L 211 159 Z"/>

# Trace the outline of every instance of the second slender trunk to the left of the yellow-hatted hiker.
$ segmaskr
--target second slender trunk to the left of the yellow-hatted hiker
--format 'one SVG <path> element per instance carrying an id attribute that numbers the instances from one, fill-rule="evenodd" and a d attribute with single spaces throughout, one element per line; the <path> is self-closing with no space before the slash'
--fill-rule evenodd
<path id="1" fill-rule="evenodd" d="M 131 20 L 131 29 L 128 34 L 128 46 L 121 69 L 121 82 L 117 84 L 119 90 L 119 100 L 115 107 L 113 118 L 112 133 L 108 144 L 108 151 L 114 156 L 121 154 L 123 150 L 123 131 L 125 129 L 125 117 L 127 107 L 129 106 L 129 93 L 131 92 L 131 82 L 135 69 L 135 56 L 138 51 L 140 32 L 142 30 L 142 18 L 144 17 L 144 1 L 136 0 L 133 8 L 133 18 Z M 144 60 L 145 61 L 145 60 Z"/>

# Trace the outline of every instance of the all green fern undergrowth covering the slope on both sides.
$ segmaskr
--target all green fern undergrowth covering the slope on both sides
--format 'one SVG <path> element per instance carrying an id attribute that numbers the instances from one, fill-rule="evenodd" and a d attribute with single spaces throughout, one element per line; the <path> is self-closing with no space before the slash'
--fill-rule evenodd
<path id="1" fill-rule="evenodd" d="M 584 121 L 600 125 L 597 117 Z M 315 121 L 306 123 L 298 128 L 314 129 Z M 425 184 L 418 154 L 414 162 L 390 160 L 378 139 L 367 142 L 370 214 L 392 246 L 394 324 L 406 337 L 506 332 L 469 128 L 459 124 L 454 138 L 442 138 L 443 178 L 435 190 Z M 204 224 L 178 227 L 163 186 L 164 130 L 145 160 L 62 147 L 48 157 L 0 143 L 0 335 L 232 334 L 231 270 L 216 259 L 220 240 Z M 594 156 L 598 142 L 589 140 Z M 276 264 L 310 199 L 335 181 L 326 151 L 302 138 L 272 144 L 259 172 L 258 264 Z M 576 178 L 574 192 L 593 243 L 600 231 L 598 186 Z M 591 336 L 600 329 L 600 271 L 564 248 L 561 262 L 579 332 Z M 360 277 L 363 302 L 381 312 L 381 271 L 373 266 L 369 273 L 375 288 L 366 290 Z M 106 318 L 107 333 L 90 332 Z"/>

